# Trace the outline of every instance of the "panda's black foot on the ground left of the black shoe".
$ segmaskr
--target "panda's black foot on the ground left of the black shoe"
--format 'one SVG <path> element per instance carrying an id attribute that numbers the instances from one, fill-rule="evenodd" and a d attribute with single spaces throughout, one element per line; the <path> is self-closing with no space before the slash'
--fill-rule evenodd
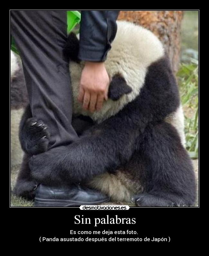
<path id="1" fill-rule="evenodd" d="M 32 200 L 35 197 L 35 191 L 38 183 L 31 176 L 31 170 L 28 165 L 28 155 L 24 155 L 20 172 L 18 174 L 13 193 L 17 196 Z"/>

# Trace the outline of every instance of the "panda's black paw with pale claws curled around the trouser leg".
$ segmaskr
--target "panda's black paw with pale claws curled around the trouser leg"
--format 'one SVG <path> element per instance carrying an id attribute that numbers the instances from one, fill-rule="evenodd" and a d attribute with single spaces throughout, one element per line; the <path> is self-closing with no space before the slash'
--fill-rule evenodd
<path id="1" fill-rule="evenodd" d="M 37 155 L 48 148 L 50 133 L 43 121 L 32 118 L 27 107 L 20 124 L 20 143 L 25 153 Z"/>

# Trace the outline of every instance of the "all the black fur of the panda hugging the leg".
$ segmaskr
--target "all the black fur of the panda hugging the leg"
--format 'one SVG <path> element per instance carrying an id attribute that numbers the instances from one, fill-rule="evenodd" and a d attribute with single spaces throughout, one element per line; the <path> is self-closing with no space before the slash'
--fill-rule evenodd
<path id="1" fill-rule="evenodd" d="M 69 40 L 73 41 L 69 43 L 71 46 L 76 45 L 75 36 L 70 36 Z M 75 55 L 69 58 L 79 62 Z M 122 74 L 115 74 L 109 97 L 118 100 L 131 90 Z M 35 145 L 47 145 L 47 136 L 32 127 L 32 123 L 39 120 L 30 119 L 28 107 L 20 133 L 27 156 L 17 180 L 16 194 L 25 193 L 23 183 L 28 181 L 32 182 L 31 190 L 38 183 L 68 186 L 72 182 L 86 183 L 106 172 L 117 175 L 119 170 L 138 184 L 139 194 L 135 195 L 138 206 L 193 205 L 195 176 L 192 163 L 176 128 L 165 121 L 179 104 L 177 84 L 168 57 L 163 56 L 148 67 L 140 94 L 114 116 L 100 123 L 89 117 L 74 117 L 74 128 L 80 137 L 68 146 L 38 155 L 34 148 L 31 151 L 34 141 Z M 29 166 L 32 172 L 28 171 Z"/>

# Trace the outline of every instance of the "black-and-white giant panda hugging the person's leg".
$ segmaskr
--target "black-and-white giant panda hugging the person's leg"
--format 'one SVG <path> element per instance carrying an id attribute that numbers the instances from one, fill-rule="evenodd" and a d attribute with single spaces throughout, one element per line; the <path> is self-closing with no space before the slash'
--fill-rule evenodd
<path id="1" fill-rule="evenodd" d="M 91 121 L 79 127 L 76 142 L 25 160 L 28 163 L 23 163 L 16 191 L 23 194 L 18 189 L 27 183 L 25 173 L 32 168 L 28 175 L 33 185 L 81 182 L 111 200 L 134 200 L 141 207 L 191 206 L 195 202 L 195 176 L 184 148 L 183 110 L 168 56 L 149 30 L 125 21 L 117 25 L 105 61 L 111 80 L 108 100 L 94 113 L 83 110 L 77 100 L 84 62 L 77 58 L 78 39 L 70 34 L 65 54 L 70 59 L 73 114 L 75 120 Z M 25 151 L 30 149 L 24 147 L 24 140 L 32 140 L 27 134 L 28 118 L 30 109 L 21 125 Z M 37 134 L 38 145 L 40 130 Z"/>

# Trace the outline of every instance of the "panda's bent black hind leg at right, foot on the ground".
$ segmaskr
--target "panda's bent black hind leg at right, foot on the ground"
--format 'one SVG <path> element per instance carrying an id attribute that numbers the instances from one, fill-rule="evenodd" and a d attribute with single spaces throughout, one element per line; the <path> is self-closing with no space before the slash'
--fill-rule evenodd
<path id="1" fill-rule="evenodd" d="M 195 202 L 195 176 L 191 160 L 175 128 L 163 122 L 148 127 L 140 144 L 144 193 L 137 206 L 191 206 Z"/>

